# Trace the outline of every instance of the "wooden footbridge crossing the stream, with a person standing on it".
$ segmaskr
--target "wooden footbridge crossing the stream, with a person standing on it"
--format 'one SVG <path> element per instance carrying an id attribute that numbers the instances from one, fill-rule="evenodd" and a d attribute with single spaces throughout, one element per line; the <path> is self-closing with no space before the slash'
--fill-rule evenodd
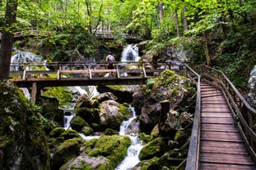
<path id="1" fill-rule="evenodd" d="M 142 85 L 170 66 L 167 63 L 114 62 L 107 69 L 105 62 L 12 63 L 10 80 L 18 87 L 32 87 L 31 99 L 44 87 L 84 85 Z M 110 76 L 113 75 L 113 76 Z"/>

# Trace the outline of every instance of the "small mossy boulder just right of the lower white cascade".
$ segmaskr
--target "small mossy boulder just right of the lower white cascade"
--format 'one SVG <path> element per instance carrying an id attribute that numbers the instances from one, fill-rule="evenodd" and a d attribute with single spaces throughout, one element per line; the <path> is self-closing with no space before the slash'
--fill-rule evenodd
<path id="1" fill-rule="evenodd" d="M 147 145 L 145 145 L 140 154 L 140 160 L 152 159 L 154 157 L 161 157 L 165 152 L 168 151 L 167 145 L 164 138 L 158 137 L 154 140 L 151 140 Z"/>

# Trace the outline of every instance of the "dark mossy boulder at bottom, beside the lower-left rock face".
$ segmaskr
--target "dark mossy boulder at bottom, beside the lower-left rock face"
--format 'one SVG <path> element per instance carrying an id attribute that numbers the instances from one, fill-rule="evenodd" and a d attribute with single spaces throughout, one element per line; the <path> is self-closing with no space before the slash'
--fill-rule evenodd
<path id="1" fill-rule="evenodd" d="M 80 146 L 80 139 L 65 140 L 54 152 L 52 159 L 53 168 L 58 169 L 69 159 L 78 156 L 80 154 Z"/>

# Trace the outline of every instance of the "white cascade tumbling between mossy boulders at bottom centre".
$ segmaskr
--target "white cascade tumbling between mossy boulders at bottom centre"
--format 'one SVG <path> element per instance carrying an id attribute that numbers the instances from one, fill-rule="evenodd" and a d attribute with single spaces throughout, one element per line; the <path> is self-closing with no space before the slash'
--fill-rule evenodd
<path id="1" fill-rule="evenodd" d="M 129 118 L 128 121 L 124 121 L 121 124 L 119 135 L 124 136 L 126 134 L 125 131 L 127 130 L 129 124 L 133 122 L 133 120 L 137 117 L 136 113 L 134 112 L 134 108 L 130 107 L 130 110 L 133 113 L 133 117 Z M 137 163 L 140 162 L 140 160 L 138 159 L 138 155 L 143 147 L 141 141 L 139 140 L 137 134 L 129 134 L 126 136 L 129 136 L 132 140 L 132 145 L 128 147 L 125 159 L 123 159 L 123 161 L 119 164 L 117 168 L 115 168 L 115 170 L 132 169 L 135 165 L 137 165 Z"/>

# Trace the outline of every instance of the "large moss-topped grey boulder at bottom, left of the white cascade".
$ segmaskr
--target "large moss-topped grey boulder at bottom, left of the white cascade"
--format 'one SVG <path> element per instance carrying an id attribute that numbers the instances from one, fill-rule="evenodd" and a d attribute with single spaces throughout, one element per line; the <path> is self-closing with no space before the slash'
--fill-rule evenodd
<path id="1" fill-rule="evenodd" d="M 129 145 L 128 136 L 100 136 L 86 141 L 83 152 L 60 169 L 114 170 L 125 157 Z"/>

